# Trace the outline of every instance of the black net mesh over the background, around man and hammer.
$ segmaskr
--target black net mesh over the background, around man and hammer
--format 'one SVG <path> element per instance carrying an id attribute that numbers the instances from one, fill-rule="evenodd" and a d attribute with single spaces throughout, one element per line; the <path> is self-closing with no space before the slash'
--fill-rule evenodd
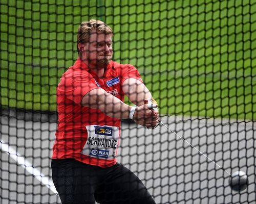
<path id="1" fill-rule="evenodd" d="M 118 162 L 157 203 L 255 203 L 255 1 L 1 0 L 0 10 L 0 203 L 60 203 L 56 87 L 89 19 L 114 30 L 114 60 L 138 68 L 163 123 L 249 185 L 231 191 L 223 170 L 161 125 L 123 120 Z"/>

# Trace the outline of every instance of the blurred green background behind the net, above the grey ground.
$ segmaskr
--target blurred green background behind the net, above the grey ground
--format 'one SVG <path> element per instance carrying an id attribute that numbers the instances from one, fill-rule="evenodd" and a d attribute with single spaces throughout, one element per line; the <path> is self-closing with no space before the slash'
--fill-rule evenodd
<path id="1" fill-rule="evenodd" d="M 114 30 L 162 115 L 256 119 L 256 2 L 1 0 L 2 108 L 56 111 L 81 21 Z"/>

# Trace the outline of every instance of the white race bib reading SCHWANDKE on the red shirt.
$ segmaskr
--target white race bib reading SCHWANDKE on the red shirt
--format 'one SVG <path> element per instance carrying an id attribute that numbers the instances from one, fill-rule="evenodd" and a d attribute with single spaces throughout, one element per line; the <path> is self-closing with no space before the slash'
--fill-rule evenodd
<path id="1" fill-rule="evenodd" d="M 115 126 L 86 126 L 88 138 L 82 154 L 98 159 L 114 159 L 119 139 L 119 128 Z"/>

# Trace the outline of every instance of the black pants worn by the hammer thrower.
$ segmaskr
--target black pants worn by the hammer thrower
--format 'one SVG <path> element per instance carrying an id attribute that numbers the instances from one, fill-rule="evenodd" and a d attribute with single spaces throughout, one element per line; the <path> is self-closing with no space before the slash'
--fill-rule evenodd
<path id="1" fill-rule="evenodd" d="M 121 164 L 100 168 L 74 159 L 52 160 L 52 179 L 63 204 L 153 204 L 150 193 Z"/>

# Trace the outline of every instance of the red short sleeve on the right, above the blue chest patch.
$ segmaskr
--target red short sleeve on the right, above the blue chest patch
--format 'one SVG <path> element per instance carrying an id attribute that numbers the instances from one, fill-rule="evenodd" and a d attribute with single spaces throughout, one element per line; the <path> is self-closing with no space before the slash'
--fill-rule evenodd
<path id="1" fill-rule="evenodd" d="M 123 82 L 129 78 L 137 79 L 143 83 L 143 81 L 140 77 L 139 71 L 133 65 L 130 65 L 130 64 L 123 65 L 123 67 L 121 68 L 120 75 L 121 75 L 121 77 L 120 77 L 121 84 L 123 84 Z"/>

